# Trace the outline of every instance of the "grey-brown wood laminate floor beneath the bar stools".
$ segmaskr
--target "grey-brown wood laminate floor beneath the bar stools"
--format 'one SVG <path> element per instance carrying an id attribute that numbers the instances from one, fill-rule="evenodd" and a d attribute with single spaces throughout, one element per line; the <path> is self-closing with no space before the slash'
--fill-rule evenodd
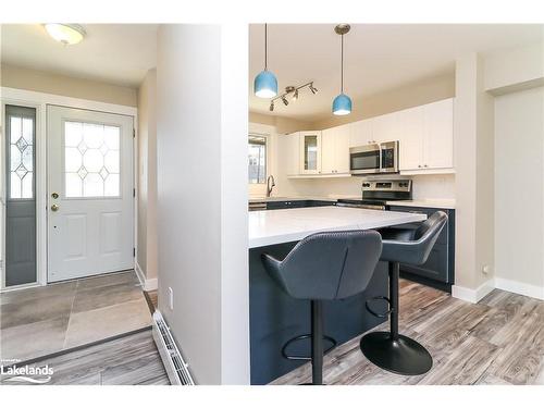
<path id="1" fill-rule="evenodd" d="M 544 384 L 544 301 L 495 289 L 472 305 L 401 280 L 399 327 L 433 356 L 434 366 L 426 374 L 403 376 L 375 367 L 361 354 L 357 337 L 325 356 L 324 382 Z M 374 330 L 387 331 L 388 323 Z M 273 384 L 310 379 L 307 363 Z"/>

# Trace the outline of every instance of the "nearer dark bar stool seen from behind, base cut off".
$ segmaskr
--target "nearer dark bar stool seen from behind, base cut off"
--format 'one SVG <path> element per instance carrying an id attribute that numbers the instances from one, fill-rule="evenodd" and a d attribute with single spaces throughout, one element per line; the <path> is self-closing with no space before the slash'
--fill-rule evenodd
<path id="1" fill-rule="evenodd" d="M 268 254 L 262 262 L 272 279 L 289 296 L 311 301 L 312 384 L 323 384 L 323 313 L 322 301 L 343 299 L 363 292 L 372 277 L 382 251 L 382 239 L 375 231 L 317 233 L 300 240 L 280 261 Z M 331 337 L 325 337 L 332 341 Z M 335 344 L 332 341 L 333 345 Z"/>

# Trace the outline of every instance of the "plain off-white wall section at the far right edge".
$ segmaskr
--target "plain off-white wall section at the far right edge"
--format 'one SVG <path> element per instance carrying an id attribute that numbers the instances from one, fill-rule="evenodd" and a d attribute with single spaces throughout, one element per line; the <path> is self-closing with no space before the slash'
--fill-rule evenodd
<path id="1" fill-rule="evenodd" d="M 495 99 L 495 276 L 544 289 L 544 87 Z"/>

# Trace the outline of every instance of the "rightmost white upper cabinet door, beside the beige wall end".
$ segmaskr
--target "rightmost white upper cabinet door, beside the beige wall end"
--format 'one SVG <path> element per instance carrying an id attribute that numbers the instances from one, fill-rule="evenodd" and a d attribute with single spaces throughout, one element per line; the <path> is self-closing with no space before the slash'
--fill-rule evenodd
<path id="1" fill-rule="evenodd" d="M 425 169 L 454 166 L 454 100 L 445 99 L 429 103 L 424 109 Z"/>

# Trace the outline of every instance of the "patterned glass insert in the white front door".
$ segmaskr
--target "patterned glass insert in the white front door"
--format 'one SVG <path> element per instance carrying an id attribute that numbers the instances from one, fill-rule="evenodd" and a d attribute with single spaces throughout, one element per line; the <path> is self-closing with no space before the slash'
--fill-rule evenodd
<path id="1" fill-rule="evenodd" d="M 64 122 L 64 189 L 69 198 L 119 197 L 121 128 Z"/>

